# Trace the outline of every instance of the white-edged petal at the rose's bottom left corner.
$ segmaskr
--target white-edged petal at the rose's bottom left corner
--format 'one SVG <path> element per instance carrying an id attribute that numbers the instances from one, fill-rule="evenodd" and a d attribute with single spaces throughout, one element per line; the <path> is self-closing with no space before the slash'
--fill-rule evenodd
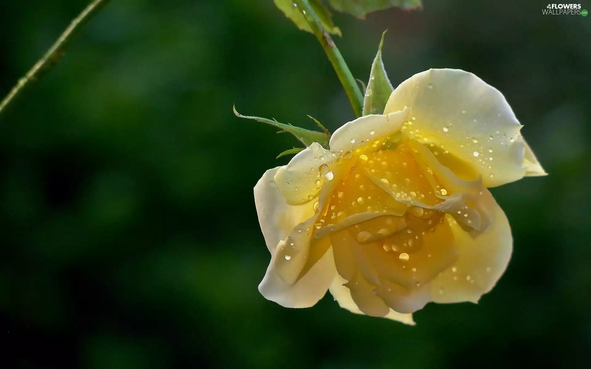
<path id="1" fill-rule="evenodd" d="M 274 270 L 275 255 L 258 289 L 266 299 L 286 308 L 309 308 L 316 304 L 335 278 L 336 268 L 332 248 L 294 285 L 285 283 Z"/>

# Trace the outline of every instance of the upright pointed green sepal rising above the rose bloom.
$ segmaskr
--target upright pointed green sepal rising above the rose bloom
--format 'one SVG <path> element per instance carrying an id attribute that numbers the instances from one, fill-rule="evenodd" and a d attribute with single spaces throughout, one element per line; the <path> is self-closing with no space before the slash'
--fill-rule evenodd
<path id="1" fill-rule="evenodd" d="M 368 87 L 365 90 L 365 98 L 363 99 L 363 115 L 384 113 L 388 98 L 394 90 L 382 62 L 382 46 L 384 46 L 385 34 L 386 31 L 382 33 L 378 54 L 375 55 L 374 63 L 371 66 Z"/>

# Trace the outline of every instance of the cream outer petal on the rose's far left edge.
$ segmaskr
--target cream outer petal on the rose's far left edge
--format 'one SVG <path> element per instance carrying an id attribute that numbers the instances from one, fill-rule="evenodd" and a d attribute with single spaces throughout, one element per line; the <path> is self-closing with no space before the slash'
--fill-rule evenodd
<path id="1" fill-rule="evenodd" d="M 254 188 L 256 214 L 271 253 L 275 252 L 279 241 L 285 240 L 294 227 L 314 215 L 311 204 L 287 204 L 274 181 L 280 168 L 277 166 L 266 171 Z"/>

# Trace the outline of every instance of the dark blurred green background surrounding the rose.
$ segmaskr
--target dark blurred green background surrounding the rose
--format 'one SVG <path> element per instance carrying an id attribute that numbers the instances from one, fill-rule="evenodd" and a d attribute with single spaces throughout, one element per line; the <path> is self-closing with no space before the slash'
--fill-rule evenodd
<path id="1" fill-rule="evenodd" d="M 591 17 L 546 5 L 335 15 L 362 80 L 388 29 L 394 85 L 453 67 L 497 87 L 550 173 L 492 190 L 515 239 L 496 288 L 411 327 L 258 293 L 252 187 L 298 143 L 232 105 L 307 128 L 353 119 L 313 35 L 271 0 L 112 1 L 0 120 L 0 367 L 589 367 Z M 0 2 L 2 94 L 84 6 Z"/>

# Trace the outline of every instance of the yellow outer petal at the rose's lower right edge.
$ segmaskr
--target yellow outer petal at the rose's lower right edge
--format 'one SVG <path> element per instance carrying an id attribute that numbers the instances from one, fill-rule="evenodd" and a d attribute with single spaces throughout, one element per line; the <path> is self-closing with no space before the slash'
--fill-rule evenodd
<path id="1" fill-rule="evenodd" d="M 452 228 L 457 262 L 431 281 L 434 302 L 478 302 L 505 272 L 511 258 L 513 240 L 505 213 L 497 205 L 492 227 L 475 238 L 446 215 Z"/>

